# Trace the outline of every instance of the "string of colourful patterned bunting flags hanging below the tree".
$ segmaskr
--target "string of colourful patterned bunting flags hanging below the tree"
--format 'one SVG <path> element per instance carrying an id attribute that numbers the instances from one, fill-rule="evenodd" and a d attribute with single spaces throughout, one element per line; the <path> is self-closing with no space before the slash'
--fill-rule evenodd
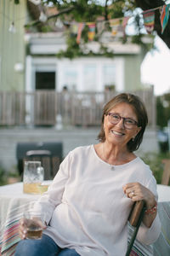
<path id="1" fill-rule="evenodd" d="M 143 19 L 144 19 L 144 27 L 146 29 L 146 32 L 149 34 L 153 32 L 154 25 L 155 25 L 155 11 L 156 9 L 159 9 L 160 11 L 160 22 L 161 22 L 161 33 L 164 32 L 167 22 L 169 20 L 169 9 L 170 9 L 170 3 L 164 4 L 162 6 L 156 7 L 155 9 L 148 9 L 144 12 L 142 12 Z M 80 44 L 81 37 L 82 37 L 82 31 L 85 26 L 88 26 L 88 40 L 93 41 L 96 33 L 100 33 L 103 31 L 105 27 L 105 23 L 109 23 L 109 26 L 111 27 L 111 34 L 112 36 L 117 36 L 120 32 L 123 36 L 125 36 L 125 28 L 127 26 L 127 22 L 131 18 L 131 16 L 126 16 L 122 18 L 116 18 L 112 20 L 102 20 L 102 17 L 100 17 L 99 20 L 96 22 L 68 22 L 65 21 L 65 24 L 71 25 L 71 32 L 73 34 L 77 35 L 77 44 Z"/>

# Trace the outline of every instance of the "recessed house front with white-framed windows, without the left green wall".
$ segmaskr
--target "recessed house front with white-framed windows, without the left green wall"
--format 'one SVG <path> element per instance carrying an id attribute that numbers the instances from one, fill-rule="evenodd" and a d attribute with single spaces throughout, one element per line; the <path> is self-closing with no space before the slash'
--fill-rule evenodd
<path id="1" fill-rule="evenodd" d="M 26 91 L 52 89 L 104 91 L 141 90 L 140 65 L 144 49 L 137 44 L 108 43 L 114 53 L 111 58 L 79 57 L 59 59 L 56 54 L 66 49 L 62 32 L 30 33 L 27 37 L 29 55 L 26 56 Z M 91 42 L 88 49 L 98 53 L 99 44 Z"/>

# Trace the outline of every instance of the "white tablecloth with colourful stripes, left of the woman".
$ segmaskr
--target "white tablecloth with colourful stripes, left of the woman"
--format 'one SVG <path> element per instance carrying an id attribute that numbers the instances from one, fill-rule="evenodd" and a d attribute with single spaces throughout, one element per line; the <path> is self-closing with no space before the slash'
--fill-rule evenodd
<path id="1" fill-rule="evenodd" d="M 2 255 L 13 255 L 20 241 L 19 221 L 23 212 L 32 207 L 40 195 L 23 193 L 23 183 L 0 187 L 0 248 Z M 1 254 L 0 254 L 1 255 Z"/>

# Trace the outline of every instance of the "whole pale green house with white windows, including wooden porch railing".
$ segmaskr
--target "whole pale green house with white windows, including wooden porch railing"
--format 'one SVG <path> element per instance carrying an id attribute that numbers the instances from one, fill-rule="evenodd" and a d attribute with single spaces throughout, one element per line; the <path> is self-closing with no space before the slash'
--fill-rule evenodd
<path id="1" fill-rule="evenodd" d="M 57 53 L 67 49 L 63 31 L 25 29 L 29 20 L 39 19 L 41 10 L 34 3 L 0 1 L 0 125 L 56 125 L 60 116 L 65 125 L 99 125 L 111 96 L 144 90 L 140 65 L 146 51 L 141 45 L 122 44 L 105 32 L 102 43 L 111 57 L 101 55 L 99 43 L 91 41 L 83 49 L 86 55 L 59 58 Z M 155 125 L 153 90 L 145 93 L 139 92 Z"/>

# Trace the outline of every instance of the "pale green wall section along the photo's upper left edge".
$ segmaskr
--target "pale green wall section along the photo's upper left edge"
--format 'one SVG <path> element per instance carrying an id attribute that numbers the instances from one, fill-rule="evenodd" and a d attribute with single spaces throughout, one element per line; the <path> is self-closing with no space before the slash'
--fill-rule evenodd
<path id="1" fill-rule="evenodd" d="M 8 32 L 14 20 L 16 32 Z M 0 90 L 25 89 L 26 0 L 14 4 L 14 0 L 0 0 Z M 15 63 L 22 63 L 23 72 L 14 71 Z"/>

